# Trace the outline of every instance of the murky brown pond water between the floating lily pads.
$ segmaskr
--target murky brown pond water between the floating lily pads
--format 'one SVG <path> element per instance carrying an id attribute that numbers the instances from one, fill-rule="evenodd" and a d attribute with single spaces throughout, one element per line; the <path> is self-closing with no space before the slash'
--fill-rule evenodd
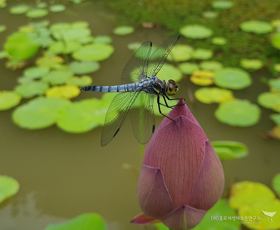
<path id="1" fill-rule="evenodd" d="M 14 4 L 20 2 L 15 1 Z M 115 52 L 109 59 L 100 62 L 100 70 L 91 75 L 94 85 L 121 84 L 122 70 L 132 56 L 127 49 L 128 43 L 151 40 L 158 45 L 169 36 L 167 31 L 158 27 L 137 28 L 131 35 L 116 36 L 112 33 L 116 16 L 92 1 L 80 5 L 69 4 L 65 12 L 52 13 L 44 19 L 50 20 L 51 24 L 87 21 L 94 36 L 109 35 L 113 38 Z M 8 8 L 1 9 L 1 24 L 7 26 L 7 30 L 0 33 L 1 46 L 6 36 L 19 26 L 41 20 L 11 15 Z M 30 66 L 35 58 L 30 60 Z M 5 61 L 0 60 L 0 90 L 13 90 L 22 70 L 5 68 Z M 257 95 L 268 91 L 260 79 L 268 75 L 267 70 L 253 72 L 253 85 L 235 91 L 235 97 L 257 103 Z M 202 104 L 190 97 L 197 88 L 185 77 L 180 81 L 177 95 L 186 98 L 186 104 L 209 140 L 234 140 L 243 142 L 249 148 L 249 155 L 244 159 L 222 162 L 225 171 L 223 197 L 228 197 L 230 186 L 236 181 L 257 181 L 271 187 L 273 176 L 279 173 L 280 142 L 264 140 L 260 133 L 274 127 L 268 118 L 273 112 L 261 108 L 262 116 L 257 125 L 249 128 L 230 127 L 214 117 L 217 104 Z M 82 92 L 74 100 L 91 97 L 101 95 Z M 56 126 L 31 131 L 21 129 L 12 122 L 12 110 L 0 112 L 0 175 L 18 180 L 20 190 L 16 196 L 0 204 L 1 230 L 41 230 L 50 223 L 85 212 L 100 214 L 109 229 L 154 229 L 153 226 L 130 223 L 134 216 L 141 213 L 136 192 L 141 146 L 133 135 L 130 119 L 125 121 L 118 135 L 107 146 L 101 147 L 102 127 L 84 134 L 66 133 Z M 162 118 L 156 117 L 157 125 Z M 132 169 L 125 169 L 124 164 L 129 164 Z"/>

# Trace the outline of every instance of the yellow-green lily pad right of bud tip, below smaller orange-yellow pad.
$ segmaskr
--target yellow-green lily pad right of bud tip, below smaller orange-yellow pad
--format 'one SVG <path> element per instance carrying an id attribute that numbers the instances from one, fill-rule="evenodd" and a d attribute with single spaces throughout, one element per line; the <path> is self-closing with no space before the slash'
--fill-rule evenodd
<path id="1" fill-rule="evenodd" d="M 232 91 L 217 87 L 203 87 L 195 91 L 195 98 L 205 104 L 222 103 L 233 100 Z"/>

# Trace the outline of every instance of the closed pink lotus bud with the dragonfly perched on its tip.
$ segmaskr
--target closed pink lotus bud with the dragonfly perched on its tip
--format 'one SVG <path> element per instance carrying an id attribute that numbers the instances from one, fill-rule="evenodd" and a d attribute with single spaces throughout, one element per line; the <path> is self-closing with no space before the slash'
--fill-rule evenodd
<path id="1" fill-rule="evenodd" d="M 131 222 L 161 221 L 173 230 L 187 230 L 220 198 L 224 171 L 186 104 L 175 106 L 168 117 L 176 124 L 164 118 L 146 146 L 137 186 L 144 213 Z"/>

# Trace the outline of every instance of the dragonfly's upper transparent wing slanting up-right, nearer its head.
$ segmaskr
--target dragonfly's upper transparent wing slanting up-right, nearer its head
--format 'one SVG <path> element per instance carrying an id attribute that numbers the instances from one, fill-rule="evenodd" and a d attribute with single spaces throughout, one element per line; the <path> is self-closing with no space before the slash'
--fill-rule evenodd
<path id="1" fill-rule="evenodd" d="M 148 60 L 148 77 L 156 76 L 160 68 L 163 66 L 169 52 L 175 46 L 179 38 L 180 34 L 174 34 L 163 42 L 154 53 L 152 53 Z"/>

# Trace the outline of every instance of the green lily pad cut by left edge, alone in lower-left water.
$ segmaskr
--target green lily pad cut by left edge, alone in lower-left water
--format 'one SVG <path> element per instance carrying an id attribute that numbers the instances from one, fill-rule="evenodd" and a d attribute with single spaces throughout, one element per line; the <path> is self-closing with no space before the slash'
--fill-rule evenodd
<path id="1" fill-rule="evenodd" d="M 12 177 L 0 175 L 0 203 L 14 196 L 19 190 L 19 183 Z"/>

